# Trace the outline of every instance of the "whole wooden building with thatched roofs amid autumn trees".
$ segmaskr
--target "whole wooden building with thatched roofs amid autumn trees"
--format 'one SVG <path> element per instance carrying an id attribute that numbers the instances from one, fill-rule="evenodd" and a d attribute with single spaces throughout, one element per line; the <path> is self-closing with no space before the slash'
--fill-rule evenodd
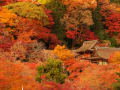
<path id="1" fill-rule="evenodd" d="M 96 46 L 97 43 L 97 40 L 85 41 L 80 48 L 73 50 L 73 52 L 77 53 L 76 57 L 81 54 L 91 54 L 90 57 L 83 59 L 90 60 L 92 63 L 107 64 L 109 57 L 114 52 L 120 51 L 120 48 Z"/>

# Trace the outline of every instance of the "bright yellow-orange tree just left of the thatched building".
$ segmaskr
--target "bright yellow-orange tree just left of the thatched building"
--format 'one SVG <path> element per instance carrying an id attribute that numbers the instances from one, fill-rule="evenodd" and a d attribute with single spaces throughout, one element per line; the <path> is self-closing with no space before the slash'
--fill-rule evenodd
<path id="1" fill-rule="evenodd" d="M 61 60 L 68 60 L 73 58 L 74 55 L 65 46 L 57 45 L 53 51 Z"/>

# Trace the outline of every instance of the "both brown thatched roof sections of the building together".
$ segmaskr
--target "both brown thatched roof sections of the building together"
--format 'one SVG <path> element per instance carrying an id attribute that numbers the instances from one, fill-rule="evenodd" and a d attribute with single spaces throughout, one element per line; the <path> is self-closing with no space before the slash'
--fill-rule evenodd
<path id="1" fill-rule="evenodd" d="M 78 52 L 85 52 L 85 51 L 94 51 L 94 55 L 92 57 L 88 57 L 85 59 L 89 59 L 89 60 L 104 59 L 104 60 L 107 60 L 107 59 L 109 59 L 111 54 L 113 54 L 116 51 L 120 51 L 120 48 L 96 47 L 97 42 L 98 42 L 97 40 L 84 41 L 83 45 L 80 48 L 73 50 L 73 52 L 78 53 Z"/>

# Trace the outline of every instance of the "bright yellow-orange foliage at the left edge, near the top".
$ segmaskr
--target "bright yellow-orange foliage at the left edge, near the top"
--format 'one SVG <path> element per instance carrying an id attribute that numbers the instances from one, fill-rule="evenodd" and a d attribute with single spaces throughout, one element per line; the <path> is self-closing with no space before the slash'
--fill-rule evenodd
<path id="1" fill-rule="evenodd" d="M 6 8 L 2 8 L 0 11 L 0 23 L 14 25 L 17 16 Z"/>

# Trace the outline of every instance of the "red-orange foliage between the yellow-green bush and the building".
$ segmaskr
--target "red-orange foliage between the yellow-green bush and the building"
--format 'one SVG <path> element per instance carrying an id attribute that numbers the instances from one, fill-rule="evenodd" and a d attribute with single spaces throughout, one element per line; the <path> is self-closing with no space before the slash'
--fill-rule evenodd
<path id="1" fill-rule="evenodd" d="M 75 59 L 64 61 L 66 69 L 70 72 L 69 78 L 76 80 L 79 75 L 86 70 L 87 67 L 93 66 L 94 64 L 88 61 L 79 61 Z"/>

